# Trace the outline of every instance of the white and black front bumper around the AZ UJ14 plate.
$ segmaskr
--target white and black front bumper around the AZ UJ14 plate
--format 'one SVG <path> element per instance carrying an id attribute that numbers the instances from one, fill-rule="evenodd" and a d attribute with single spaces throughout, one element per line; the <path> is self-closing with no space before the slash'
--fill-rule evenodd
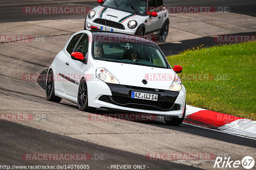
<path id="1" fill-rule="evenodd" d="M 95 108 L 170 115 L 181 118 L 185 107 L 186 91 L 184 86 L 180 92 L 169 90 L 155 92 L 153 91 L 155 89 L 110 84 L 95 78 L 87 82 L 87 87 L 88 105 Z M 131 91 L 158 94 L 158 101 L 132 99 Z M 179 106 L 178 110 L 175 107 L 177 105 Z"/>

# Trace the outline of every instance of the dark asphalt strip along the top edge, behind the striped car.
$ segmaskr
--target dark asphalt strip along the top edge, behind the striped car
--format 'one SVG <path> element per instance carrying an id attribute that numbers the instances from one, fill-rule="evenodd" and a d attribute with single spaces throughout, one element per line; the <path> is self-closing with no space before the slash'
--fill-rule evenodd
<path id="1" fill-rule="evenodd" d="M 8 2 L 8 3 L 6 3 Z M 26 15 L 21 12 L 24 6 L 86 6 L 93 8 L 98 3 L 94 0 L 51 0 L 51 1 L 9 1 L 2 0 L 2 5 L 0 7 L 0 22 L 14 22 L 14 21 L 35 21 L 44 19 L 69 19 L 69 18 L 84 18 L 84 14 L 36 14 L 36 15 Z M 231 12 L 245 14 L 250 16 L 256 16 L 256 2 L 253 0 L 212 0 L 212 1 L 179 1 L 179 0 L 165 0 L 166 6 L 219 6 L 219 7 L 229 7 Z"/>

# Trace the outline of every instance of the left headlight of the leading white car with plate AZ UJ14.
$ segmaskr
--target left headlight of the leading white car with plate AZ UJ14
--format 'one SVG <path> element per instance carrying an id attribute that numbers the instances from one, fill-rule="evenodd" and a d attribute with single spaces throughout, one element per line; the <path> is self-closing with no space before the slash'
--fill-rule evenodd
<path id="1" fill-rule="evenodd" d="M 109 73 L 105 68 L 97 68 L 96 77 L 102 81 L 105 81 L 106 83 L 120 84 L 116 77 Z"/>

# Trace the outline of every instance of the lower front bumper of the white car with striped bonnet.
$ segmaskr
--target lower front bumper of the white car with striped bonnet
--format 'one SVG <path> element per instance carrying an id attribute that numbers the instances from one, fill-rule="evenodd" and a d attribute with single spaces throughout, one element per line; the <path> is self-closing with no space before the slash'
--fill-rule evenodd
<path id="1" fill-rule="evenodd" d="M 88 24 L 91 25 L 90 28 L 87 27 Z M 84 27 L 86 30 L 100 30 L 101 27 L 105 27 L 105 25 L 94 23 L 93 20 L 86 18 Z M 107 28 L 113 29 L 113 32 L 122 32 L 122 33 L 127 33 L 127 34 L 135 34 L 135 32 L 136 32 L 136 29 L 127 29 L 127 28 L 125 28 L 125 26 L 124 26 L 124 28 L 125 28 L 124 30 L 110 27 L 110 26 L 107 26 Z"/>

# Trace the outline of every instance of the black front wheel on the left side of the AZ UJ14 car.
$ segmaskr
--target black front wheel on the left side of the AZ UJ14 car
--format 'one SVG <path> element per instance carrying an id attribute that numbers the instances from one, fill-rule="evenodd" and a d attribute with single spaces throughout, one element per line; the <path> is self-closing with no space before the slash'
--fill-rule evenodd
<path id="1" fill-rule="evenodd" d="M 82 79 L 78 89 L 77 105 L 79 110 L 94 112 L 96 108 L 88 106 L 88 90 L 85 79 Z"/>

